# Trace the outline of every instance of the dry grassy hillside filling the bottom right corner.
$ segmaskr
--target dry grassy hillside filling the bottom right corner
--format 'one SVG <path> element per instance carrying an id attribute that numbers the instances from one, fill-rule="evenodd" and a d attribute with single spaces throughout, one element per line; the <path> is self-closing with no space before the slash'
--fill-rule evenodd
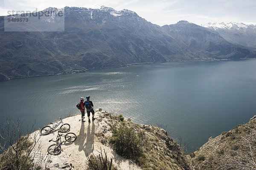
<path id="1" fill-rule="evenodd" d="M 188 158 L 195 170 L 255 170 L 256 119 L 209 138 Z"/>

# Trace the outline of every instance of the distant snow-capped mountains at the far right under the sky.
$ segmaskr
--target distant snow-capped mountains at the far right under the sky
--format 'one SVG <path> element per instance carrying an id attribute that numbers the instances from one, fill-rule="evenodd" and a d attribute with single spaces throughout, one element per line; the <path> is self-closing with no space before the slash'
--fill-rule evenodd
<path id="1" fill-rule="evenodd" d="M 201 26 L 218 32 L 230 43 L 256 48 L 256 25 L 244 23 L 207 23 Z"/>

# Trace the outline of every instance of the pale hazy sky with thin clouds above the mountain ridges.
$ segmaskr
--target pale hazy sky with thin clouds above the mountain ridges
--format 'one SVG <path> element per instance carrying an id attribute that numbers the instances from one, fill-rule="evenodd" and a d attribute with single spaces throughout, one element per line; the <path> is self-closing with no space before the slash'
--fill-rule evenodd
<path id="1" fill-rule="evenodd" d="M 0 15 L 7 11 L 41 11 L 48 7 L 77 6 L 117 11 L 128 9 L 151 23 L 163 26 L 187 20 L 208 22 L 243 22 L 256 24 L 256 0 L 0 0 Z"/>

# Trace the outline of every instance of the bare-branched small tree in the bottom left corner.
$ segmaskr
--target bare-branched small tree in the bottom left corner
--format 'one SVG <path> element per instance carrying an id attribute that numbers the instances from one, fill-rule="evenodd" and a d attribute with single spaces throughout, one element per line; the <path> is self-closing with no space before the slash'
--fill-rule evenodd
<path id="1" fill-rule="evenodd" d="M 0 169 L 41 169 L 41 167 L 34 167 L 33 163 L 35 154 L 32 154 L 32 151 L 36 152 L 41 149 L 41 144 L 35 149 L 40 138 L 39 133 L 32 133 L 35 122 L 31 128 L 24 127 L 23 121 L 19 119 L 17 121 L 6 119 L 6 123 L 0 122 L 0 152 L 2 153 L 0 155 Z M 29 135 L 30 133 L 32 134 Z"/>

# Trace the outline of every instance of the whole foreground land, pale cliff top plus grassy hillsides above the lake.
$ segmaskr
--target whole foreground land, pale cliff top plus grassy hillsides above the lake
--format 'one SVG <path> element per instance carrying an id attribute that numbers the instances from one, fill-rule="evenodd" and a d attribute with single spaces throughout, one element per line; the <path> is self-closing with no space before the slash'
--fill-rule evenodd
<path id="1" fill-rule="evenodd" d="M 209 138 L 206 144 L 189 155 L 185 155 L 180 145 L 160 127 L 134 124 L 131 119 L 124 120 L 122 115 L 101 109 L 96 110 L 95 118 L 91 123 L 82 122 L 80 114 L 64 118 L 63 122 L 70 124 L 70 130 L 61 134 L 75 133 L 77 138 L 68 142 L 62 137 L 58 155 L 47 152 L 54 143 L 51 139 L 55 140 L 58 135 L 58 128 L 49 135 L 39 135 L 40 130 L 37 130 L 21 136 L 23 131 L 19 128 L 22 124 L 13 122 L 20 138 L 7 136 L 13 139 L 6 139 L 12 147 L 0 155 L 0 169 L 256 170 L 256 115 L 247 124 Z M 12 129 L 6 130 L 11 132 Z M 4 136 L 1 134 L 0 137 L 4 139 Z M 0 147 L 3 150 L 5 145 Z"/>

